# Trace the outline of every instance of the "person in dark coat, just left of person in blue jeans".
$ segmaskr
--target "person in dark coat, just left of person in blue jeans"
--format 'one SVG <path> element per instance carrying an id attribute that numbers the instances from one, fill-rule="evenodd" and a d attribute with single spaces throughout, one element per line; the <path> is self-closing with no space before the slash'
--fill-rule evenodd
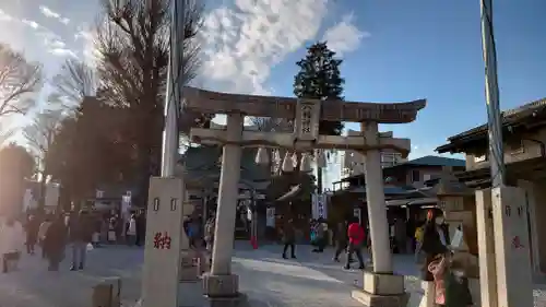
<path id="1" fill-rule="evenodd" d="M 59 263 L 64 258 L 64 248 L 67 246 L 67 226 L 64 216 L 56 216 L 54 222 L 46 231 L 43 244 L 43 252 L 49 262 L 49 271 L 58 271 Z"/>

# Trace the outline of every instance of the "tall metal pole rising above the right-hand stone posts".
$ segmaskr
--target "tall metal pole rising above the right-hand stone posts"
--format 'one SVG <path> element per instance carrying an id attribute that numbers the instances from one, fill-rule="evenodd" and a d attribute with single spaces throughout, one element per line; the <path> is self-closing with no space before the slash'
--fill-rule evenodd
<path id="1" fill-rule="evenodd" d="M 480 0 L 482 47 L 485 62 L 485 96 L 487 103 L 487 129 L 489 134 L 489 164 L 491 188 L 505 185 L 505 152 L 502 147 L 502 119 L 499 110 L 497 82 L 497 50 L 492 32 L 492 0 Z"/>

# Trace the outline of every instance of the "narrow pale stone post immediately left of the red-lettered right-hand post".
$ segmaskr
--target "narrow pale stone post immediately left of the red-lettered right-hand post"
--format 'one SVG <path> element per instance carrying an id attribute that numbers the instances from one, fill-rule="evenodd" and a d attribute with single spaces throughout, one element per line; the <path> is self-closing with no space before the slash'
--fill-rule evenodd
<path id="1" fill-rule="evenodd" d="M 482 306 L 497 307 L 497 268 L 495 231 L 491 214 L 491 189 L 476 191 L 476 226 L 478 240 L 479 288 Z"/>

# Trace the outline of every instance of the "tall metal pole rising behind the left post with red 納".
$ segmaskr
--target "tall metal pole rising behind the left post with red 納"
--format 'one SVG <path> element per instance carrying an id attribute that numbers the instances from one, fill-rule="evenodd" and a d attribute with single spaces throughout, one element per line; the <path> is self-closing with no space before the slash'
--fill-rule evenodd
<path id="1" fill-rule="evenodd" d="M 171 24 L 169 42 L 169 63 L 167 72 L 167 93 L 165 95 L 165 125 L 163 130 L 162 177 L 173 177 L 178 156 L 178 113 L 182 102 L 182 55 L 185 29 L 185 1 L 171 3 Z"/>

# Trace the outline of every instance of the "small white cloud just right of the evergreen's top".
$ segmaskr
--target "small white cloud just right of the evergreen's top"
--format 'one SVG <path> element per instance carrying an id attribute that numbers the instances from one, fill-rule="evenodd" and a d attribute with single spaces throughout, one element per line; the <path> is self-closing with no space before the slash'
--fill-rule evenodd
<path id="1" fill-rule="evenodd" d="M 324 33 L 322 40 L 327 40 L 328 47 L 339 56 L 358 49 L 360 42 L 370 36 L 368 32 L 360 31 L 354 22 L 354 14 L 346 14 L 341 22 Z"/>

